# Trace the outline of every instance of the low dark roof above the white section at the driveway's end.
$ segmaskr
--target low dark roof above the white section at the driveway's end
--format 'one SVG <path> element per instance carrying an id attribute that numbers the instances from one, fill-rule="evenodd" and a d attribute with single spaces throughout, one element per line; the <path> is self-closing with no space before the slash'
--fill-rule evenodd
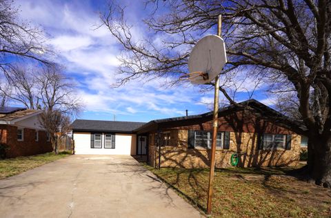
<path id="1" fill-rule="evenodd" d="M 133 132 L 143 124 L 145 123 L 76 119 L 71 127 L 74 131 Z"/>

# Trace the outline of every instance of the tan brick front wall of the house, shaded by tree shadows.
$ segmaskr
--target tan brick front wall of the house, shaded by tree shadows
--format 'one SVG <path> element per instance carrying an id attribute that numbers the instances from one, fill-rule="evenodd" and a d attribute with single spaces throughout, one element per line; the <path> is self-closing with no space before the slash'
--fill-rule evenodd
<path id="1" fill-rule="evenodd" d="M 243 116 L 246 115 L 246 116 Z M 248 116 L 247 116 L 248 115 Z M 167 128 L 171 133 L 171 145 L 161 147 L 161 167 L 206 168 L 209 165 L 210 149 L 188 148 L 188 130 L 212 130 L 212 121 Z M 163 130 L 163 131 L 165 131 Z M 238 131 L 239 130 L 239 131 Z M 219 131 L 230 132 L 230 149 L 217 148 L 217 168 L 230 167 L 230 157 L 239 153 L 239 166 L 297 166 L 300 156 L 300 135 L 287 130 L 272 121 L 256 119 L 249 113 L 237 113 L 219 118 Z M 291 134 L 291 149 L 258 150 L 258 134 Z M 153 134 L 154 135 L 154 134 Z M 159 147 L 150 142 L 150 165 L 159 165 Z"/>

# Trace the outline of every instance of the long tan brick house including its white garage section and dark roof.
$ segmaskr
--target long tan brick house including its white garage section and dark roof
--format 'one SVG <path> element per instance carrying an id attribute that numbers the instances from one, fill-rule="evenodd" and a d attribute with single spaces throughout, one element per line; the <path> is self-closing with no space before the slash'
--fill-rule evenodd
<path id="1" fill-rule="evenodd" d="M 148 123 L 128 122 L 127 125 L 118 121 L 79 122 L 86 122 L 87 129 L 81 137 L 78 136 L 81 132 L 77 132 L 81 126 L 73 125 L 75 146 L 79 151 L 77 153 L 115 154 L 117 152 L 105 148 L 110 145 L 115 149 L 123 146 L 121 154 L 147 153 L 148 163 L 154 167 L 208 167 L 212 112 Z M 94 128 L 93 122 L 98 123 L 97 128 Z M 126 132 L 117 133 L 117 130 Z M 297 166 L 303 131 L 298 123 L 254 99 L 221 108 L 216 166 L 230 166 L 233 154 L 239 154 L 239 166 Z M 94 136 L 89 132 L 94 132 Z M 107 135 L 107 132 L 113 133 Z M 122 138 L 117 137 L 120 134 L 130 137 L 131 146 L 129 139 L 124 143 Z M 96 145 L 99 150 L 95 148 Z"/>

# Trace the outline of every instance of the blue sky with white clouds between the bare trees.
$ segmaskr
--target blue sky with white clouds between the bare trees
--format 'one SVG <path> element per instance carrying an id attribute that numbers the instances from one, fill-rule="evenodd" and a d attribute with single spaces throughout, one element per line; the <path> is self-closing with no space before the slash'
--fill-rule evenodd
<path id="1" fill-rule="evenodd" d="M 150 37 L 141 18 L 146 15 L 143 1 L 120 1 L 130 12 L 128 22 L 134 25 L 137 39 Z M 79 119 L 118 121 L 150 121 L 166 117 L 195 115 L 211 110 L 213 92 L 199 92 L 199 87 L 188 83 L 165 87 L 165 78 L 152 81 L 134 80 L 119 88 L 112 88 L 116 81 L 121 50 L 117 41 L 101 23 L 98 12 L 107 1 L 15 1 L 21 19 L 30 21 L 46 32 L 46 43 L 59 54 L 57 61 L 66 66 L 66 75 L 77 83 L 77 95 L 84 108 Z M 155 35 L 157 41 L 159 35 Z M 237 93 L 237 100 L 248 98 L 254 81 L 246 81 Z M 254 92 L 255 99 L 272 104 L 263 86 Z M 220 100 L 223 101 L 223 96 Z"/>

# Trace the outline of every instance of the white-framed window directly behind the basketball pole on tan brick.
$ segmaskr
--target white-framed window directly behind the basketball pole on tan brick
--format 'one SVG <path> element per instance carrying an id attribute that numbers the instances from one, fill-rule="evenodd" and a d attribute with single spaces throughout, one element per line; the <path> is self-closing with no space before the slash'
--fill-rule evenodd
<path id="1" fill-rule="evenodd" d="M 223 148 L 224 132 L 217 132 L 218 148 Z M 212 148 L 212 132 L 195 131 L 194 132 L 194 147 Z"/>

